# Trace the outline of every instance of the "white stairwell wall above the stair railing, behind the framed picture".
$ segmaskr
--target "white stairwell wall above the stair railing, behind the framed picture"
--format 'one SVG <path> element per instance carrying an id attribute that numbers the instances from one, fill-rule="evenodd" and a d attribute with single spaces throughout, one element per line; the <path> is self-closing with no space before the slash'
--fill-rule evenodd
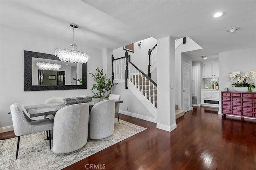
<path id="1" fill-rule="evenodd" d="M 134 43 L 134 53 L 128 51 L 129 55 L 131 56 L 131 62 L 134 63 L 138 68 L 140 68 L 144 73 L 148 73 L 148 49 L 152 49 L 157 40 L 153 37 L 144 39 L 141 41 L 141 48 L 138 46 L 140 41 Z M 152 51 L 151 60 L 155 60 L 157 47 Z M 114 59 L 124 57 L 125 50 L 123 47 L 113 50 Z M 151 65 L 153 61 L 150 61 Z"/>

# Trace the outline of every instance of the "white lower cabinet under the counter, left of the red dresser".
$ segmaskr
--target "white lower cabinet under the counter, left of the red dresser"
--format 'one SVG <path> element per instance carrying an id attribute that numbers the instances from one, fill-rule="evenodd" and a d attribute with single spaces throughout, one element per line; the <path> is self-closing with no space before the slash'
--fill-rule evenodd
<path id="1" fill-rule="evenodd" d="M 219 90 L 201 90 L 202 106 L 219 107 Z"/>

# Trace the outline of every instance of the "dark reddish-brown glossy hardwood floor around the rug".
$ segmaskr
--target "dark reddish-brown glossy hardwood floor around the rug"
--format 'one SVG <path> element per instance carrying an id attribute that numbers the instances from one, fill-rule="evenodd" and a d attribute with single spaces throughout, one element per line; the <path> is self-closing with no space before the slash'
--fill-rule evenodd
<path id="1" fill-rule="evenodd" d="M 146 127 L 65 170 L 256 170 L 256 120 L 218 115 L 218 109 L 194 107 L 176 119 L 172 132 L 120 114 L 120 119 Z M 1 133 L 1 139 L 15 137 Z"/>

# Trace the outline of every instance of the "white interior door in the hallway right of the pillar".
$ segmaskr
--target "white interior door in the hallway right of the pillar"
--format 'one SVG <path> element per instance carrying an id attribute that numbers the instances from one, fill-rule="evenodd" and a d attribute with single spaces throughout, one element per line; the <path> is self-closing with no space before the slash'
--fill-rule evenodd
<path id="1" fill-rule="evenodd" d="M 189 111 L 190 105 L 190 81 L 189 81 L 189 68 L 188 63 L 182 62 L 182 79 L 183 79 L 183 110 L 184 112 Z"/>

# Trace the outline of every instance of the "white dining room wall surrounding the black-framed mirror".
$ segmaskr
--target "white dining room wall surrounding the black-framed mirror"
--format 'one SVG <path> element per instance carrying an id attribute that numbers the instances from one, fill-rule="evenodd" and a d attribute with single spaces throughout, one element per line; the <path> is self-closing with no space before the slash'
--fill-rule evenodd
<path id="1" fill-rule="evenodd" d="M 71 40 L 70 40 L 71 41 Z M 90 54 L 88 71 L 95 72 L 96 65 L 102 68 L 102 50 L 77 44 L 80 51 Z M 55 48 L 70 48 L 70 42 L 54 39 L 12 27 L 1 25 L 0 58 L 0 127 L 12 125 L 10 105 L 19 102 L 22 106 L 41 104 L 51 97 L 74 97 L 92 95 L 90 88 L 93 80 L 87 74 L 87 89 L 84 90 L 50 90 L 24 92 L 24 50 L 54 54 Z"/>

